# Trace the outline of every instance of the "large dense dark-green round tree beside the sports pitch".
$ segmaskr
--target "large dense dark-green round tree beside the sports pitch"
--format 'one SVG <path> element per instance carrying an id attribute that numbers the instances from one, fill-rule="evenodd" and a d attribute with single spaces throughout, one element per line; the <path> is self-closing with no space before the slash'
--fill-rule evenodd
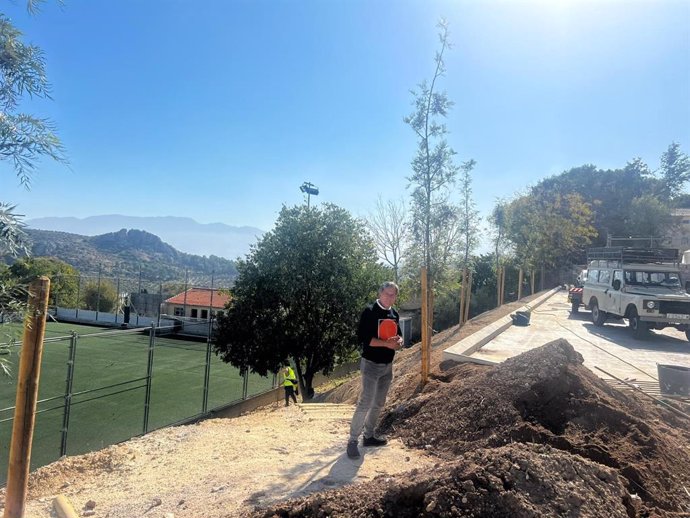
<path id="1" fill-rule="evenodd" d="M 335 205 L 283 207 L 275 228 L 237 263 L 216 354 L 262 376 L 291 360 L 311 397 L 314 375 L 354 349 L 359 315 L 383 280 L 368 236 Z"/>

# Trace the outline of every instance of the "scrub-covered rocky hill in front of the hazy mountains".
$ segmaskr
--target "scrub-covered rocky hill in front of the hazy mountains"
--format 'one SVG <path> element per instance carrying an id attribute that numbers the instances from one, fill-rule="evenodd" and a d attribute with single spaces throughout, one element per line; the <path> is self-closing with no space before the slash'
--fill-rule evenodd
<path id="1" fill-rule="evenodd" d="M 179 252 L 161 238 L 143 230 L 122 229 L 98 236 L 26 229 L 34 257 L 49 256 L 72 265 L 84 275 L 183 281 L 211 275 L 227 281 L 237 275 L 235 263 L 222 257 L 202 257 Z"/>

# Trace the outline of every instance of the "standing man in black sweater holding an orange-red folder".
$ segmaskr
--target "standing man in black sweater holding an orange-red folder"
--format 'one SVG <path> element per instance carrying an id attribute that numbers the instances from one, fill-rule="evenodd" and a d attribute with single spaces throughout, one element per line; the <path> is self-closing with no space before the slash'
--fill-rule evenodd
<path id="1" fill-rule="evenodd" d="M 379 298 L 364 309 L 359 320 L 357 338 L 362 347 L 362 391 L 350 424 L 347 456 L 351 459 L 359 458 L 357 442 L 362 429 L 363 446 L 383 446 L 388 442 L 376 437 L 374 431 L 393 379 L 393 357 L 403 343 L 400 317 L 393 309 L 397 297 L 398 285 L 384 282 L 379 288 Z"/>

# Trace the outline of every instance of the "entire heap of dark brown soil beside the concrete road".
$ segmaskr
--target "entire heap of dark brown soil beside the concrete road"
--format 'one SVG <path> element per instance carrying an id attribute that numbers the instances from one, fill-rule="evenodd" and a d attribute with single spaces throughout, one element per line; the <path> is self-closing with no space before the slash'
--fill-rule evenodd
<path id="1" fill-rule="evenodd" d="M 687 409 L 611 388 L 565 340 L 416 381 L 399 377 L 381 429 L 436 456 L 433 470 L 250 516 L 690 517 Z M 356 397 L 355 383 L 337 390 Z"/>

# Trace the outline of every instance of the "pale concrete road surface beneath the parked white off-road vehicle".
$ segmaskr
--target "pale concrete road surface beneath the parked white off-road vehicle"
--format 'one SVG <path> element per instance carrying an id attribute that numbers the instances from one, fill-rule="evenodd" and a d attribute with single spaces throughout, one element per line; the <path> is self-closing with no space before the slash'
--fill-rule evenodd
<path id="1" fill-rule="evenodd" d="M 527 327 L 510 326 L 472 358 L 501 362 L 557 338 L 565 338 L 584 357 L 585 365 L 602 378 L 595 367 L 625 380 L 658 380 L 657 364 L 690 367 L 690 342 L 673 328 L 651 331 L 649 338 L 636 340 L 627 320 L 596 327 L 589 311 L 570 313 L 567 293 L 557 292 L 531 313 Z"/>

